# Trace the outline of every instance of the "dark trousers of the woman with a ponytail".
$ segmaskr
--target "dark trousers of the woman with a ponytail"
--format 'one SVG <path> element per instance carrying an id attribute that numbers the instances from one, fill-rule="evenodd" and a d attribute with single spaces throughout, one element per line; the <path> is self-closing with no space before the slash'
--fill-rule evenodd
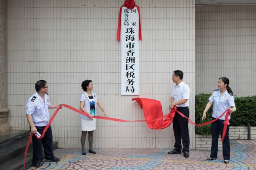
<path id="1" fill-rule="evenodd" d="M 215 118 L 212 117 L 212 120 L 214 119 Z M 225 120 L 219 119 L 212 123 L 212 147 L 211 147 L 211 156 L 210 156 L 211 158 L 217 158 L 219 133 L 222 137 L 224 121 Z M 223 147 L 222 152 L 223 152 L 224 160 L 230 159 L 230 142 L 228 137 L 228 131 L 229 131 L 229 125 L 227 125 L 226 135 L 222 143 L 222 147 Z"/>

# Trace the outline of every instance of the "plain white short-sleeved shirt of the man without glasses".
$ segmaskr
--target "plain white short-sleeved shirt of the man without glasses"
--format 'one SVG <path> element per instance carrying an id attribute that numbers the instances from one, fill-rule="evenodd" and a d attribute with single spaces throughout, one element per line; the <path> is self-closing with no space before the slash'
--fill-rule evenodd
<path id="1" fill-rule="evenodd" d="M 176 105 L 177 107 L 186 107 L 189 105 L 189 97 L 190 97 L 190 88 L 187 84 L 185 84 L 183 81 L 179 83 L 179 85 L 173 85 L 172 88 L 172 94 L 171 97 L 173 97 L 174 102 L 177 102 L 181 99 L 187 99 L 186 103 L 183 103 L 181 105 Z"/>

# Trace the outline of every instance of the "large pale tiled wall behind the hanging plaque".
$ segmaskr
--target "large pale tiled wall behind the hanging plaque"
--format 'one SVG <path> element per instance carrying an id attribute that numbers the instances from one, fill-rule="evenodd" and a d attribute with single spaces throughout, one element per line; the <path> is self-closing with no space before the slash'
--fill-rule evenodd
<path id="1" fill-rule="evenodd" d="M 160 100 L 168 113 L 172 71 L 183 70 L 190 86 L 194 120 L 195 2 L 136 0 L 141 7 L 140 95 Z M 8 0 L 8 120 L 28 129 L 25 105 L 37 80 L 49 85 L 51 103 L 78 108 L 85 79 L 110 117 L 143 120 L 133 97 L 121 96 L 121 43 L 116 41 L 122 0 Z M 51 110 L 53 113 L 54 110 Z M 99 111 L 98 115 L 102 115 Z M 60 148 L 80 148 L 80 116 L 63 108 L 52 123 Z M 190 148 L 195 148 L 189 125 Z M 94 148 L 173 148 L 172 125 L 151 130 L 146 123 L 97 120 Z M 88 146 L 88 143 L 86 144 Z"/>

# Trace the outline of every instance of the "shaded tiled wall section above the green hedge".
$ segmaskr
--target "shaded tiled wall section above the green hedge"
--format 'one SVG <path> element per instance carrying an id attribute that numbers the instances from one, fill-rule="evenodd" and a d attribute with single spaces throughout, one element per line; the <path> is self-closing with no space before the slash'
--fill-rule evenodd
<path id="1" fill-rule="evenodd" d="M 196 93 L 230 79 L 234 95 L 256 95 L 256 5 L 196 7 Z"/>

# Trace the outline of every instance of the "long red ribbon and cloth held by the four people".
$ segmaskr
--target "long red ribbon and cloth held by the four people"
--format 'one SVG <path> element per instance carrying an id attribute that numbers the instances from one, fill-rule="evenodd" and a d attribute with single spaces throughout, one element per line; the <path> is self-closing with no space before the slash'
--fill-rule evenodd
<path id="1" fill-rule="evenodd" d="M 186 117 L 183 113 L 179 112 L 177 110 L 176 106 L 172 110 L 170 110 L 170 112 L 167 115 L 163 116 L 162 105 L 161 105 L 160 101 L 157 101 L 154 99 L 146 99 L 146 98 L 134 98 L 132 100 L 135 100 L 141 106 L 141 108 L 143 108 L 145 120 L 123 120 L 123 119 L 116 119 L 116 118 L 112 118 L 112 117 L 91 116 L 90 114 L 85 113 L 81 110 L 78 110 L 78 109 L 76 109 L 72 106 L 69 106 L 67 104 L 63 104 L 63 106 L 65 106 L 69 110 L 73 110 L 73 111 L 80 113 L 82 115 L 85 115 L 87 117 L 92 117 L 92 118 L 96 118 L 96 119 L 112 120 L 112 121 L 117 121 L 117 122 L 146 122 L 148 127 L 150 127 L 151 129 L 164 129 L 164 128 L 170 126 L 170 124 L 172 124 L 172 120 L 175 116 L 175 113 L 179 113 L 182 117 L 187 118 L 191 124 L 194 124 L 196 126 L 204 126 L 204 125 L 210 124 L 212 122 L 215 122 L 220 117 L 222 117 L 225 113 L 227 113 L 225 116 L 224 129 L 223 129 L 223 134 L 222 134 L 222 142 L 224 140 L 224 137 L 225 137 L 226 131 L 227 131 L 227 125 L 229 125 L 229 120 L 228 120 L 228 117 L 230 115 L 230 113 L 228 112 L 229 108 L 227 110 L 225 110 L 225 112 L 223 112 L 215 120 L 211 120 L 211 121 L 205 122 L 203 124 L 195 124 L 192 120 L 190 120 L 190 118 Z M 53 119 L 55 118 L 55 116 L 57 115 L 57 113 L 59 112 L 60 109 L 61 109 L 61 106 L 59 106 L 55 110 L 55 112 L 52 114 L 52 116 L 49 120 L 49 123 L 44 128 L 43 134 L 41 134 L 40 137 L 36 136 L 38 139 L 44 138 L 45 132 L 51 125 Z M 165 120 L 163 120 L 163 119 L 165 119 Z M 33 134 L 31 133 L 29 136 L 29 141 L 26 145 L 25 153 L 24 153 L 24 162 L 23 162 L 24 170 L 25 170 L 26 155 L 27 155 L 27 152 L 29 149 L 29 144 L 31 142 L 32 137 L 33 137 Z"/>

